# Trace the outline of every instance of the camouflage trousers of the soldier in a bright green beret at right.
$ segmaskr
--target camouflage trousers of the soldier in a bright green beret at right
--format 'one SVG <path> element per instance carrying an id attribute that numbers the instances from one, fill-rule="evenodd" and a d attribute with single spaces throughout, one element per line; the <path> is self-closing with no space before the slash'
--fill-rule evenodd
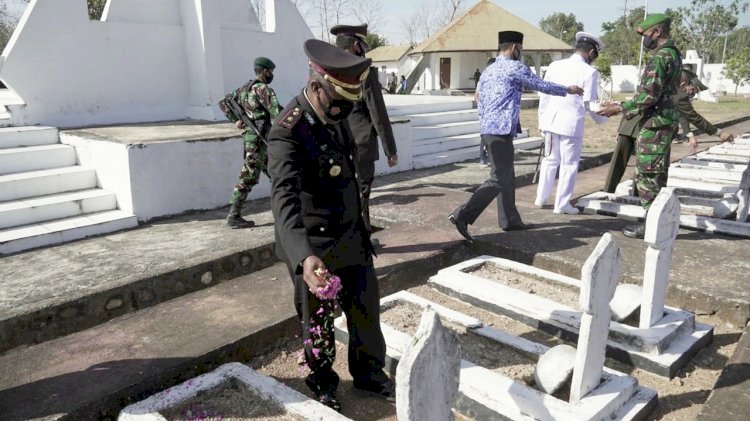
<path id="1" fill-rule="evenodd" d="M 677 122 L 671 126 L 643 128 L 636 140 L 635 184 L 641 206 L 648 210 L 662 187 L 667 185 L 669 152 Z"/>

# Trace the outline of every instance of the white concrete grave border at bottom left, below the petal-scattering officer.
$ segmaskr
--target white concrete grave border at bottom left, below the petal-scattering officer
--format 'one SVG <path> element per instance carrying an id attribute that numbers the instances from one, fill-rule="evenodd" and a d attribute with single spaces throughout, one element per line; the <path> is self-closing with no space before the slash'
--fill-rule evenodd
<path id="1" fill-rule="evenodd" d="M 303 420 L 348 420 L 338 412 L 296 390 L 240 364 L 224 364 L 214 371 L 188 380 L 159 392 L 145 400 L 128 405 L 120 412 L 118 421 L 166 421 L 160 411 L 173 408 L 196 396 L 198 392 L 213 389 L 230 379 L 237 379 L 265 399 L 271 400 L 295 418 Z"/>

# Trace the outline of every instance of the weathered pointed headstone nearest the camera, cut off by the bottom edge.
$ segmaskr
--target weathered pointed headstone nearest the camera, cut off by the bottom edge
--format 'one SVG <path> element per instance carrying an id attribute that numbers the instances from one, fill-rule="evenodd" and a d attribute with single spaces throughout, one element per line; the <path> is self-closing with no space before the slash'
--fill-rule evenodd
<path id="1" fill-rule="evenodd" d="M 396 368 L 396 415 L 401 421 L 450 420 L 458 394 L 461 346 L 438 314 L 422 313 Z"/>

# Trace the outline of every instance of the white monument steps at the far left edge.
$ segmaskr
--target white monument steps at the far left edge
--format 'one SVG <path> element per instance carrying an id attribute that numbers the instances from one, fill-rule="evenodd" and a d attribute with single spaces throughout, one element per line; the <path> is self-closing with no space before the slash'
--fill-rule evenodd
<path id="1" fill-rule="evenodd" d="M 0 128 L 0 255 L 132 228 L 54 127 Z"/>

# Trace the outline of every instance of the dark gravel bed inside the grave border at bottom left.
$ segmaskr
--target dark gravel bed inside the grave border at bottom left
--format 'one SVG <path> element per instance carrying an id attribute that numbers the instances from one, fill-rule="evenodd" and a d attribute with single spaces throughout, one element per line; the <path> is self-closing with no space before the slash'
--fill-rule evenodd
<path id="1" fill-rule="evenodd" d="M 237 379 L 208 389 L 182 404 L 161 411 L 169 421 L 297 421 L 284 407 L 263 398 Z"/>

